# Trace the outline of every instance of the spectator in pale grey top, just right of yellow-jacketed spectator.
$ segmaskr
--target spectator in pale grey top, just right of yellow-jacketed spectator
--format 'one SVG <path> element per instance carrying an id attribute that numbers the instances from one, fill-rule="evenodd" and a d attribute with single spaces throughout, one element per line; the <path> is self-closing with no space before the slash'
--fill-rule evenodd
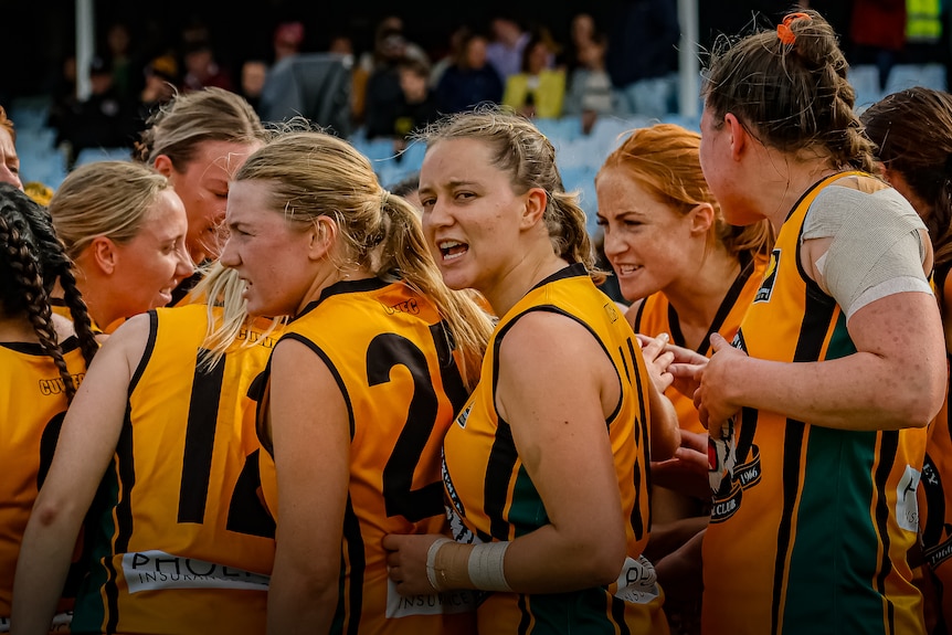
<path id="1" fill-rule="evenodd" d="M 612 78 L 605 70 L 606 51 L 604 33 L 594 33 L 591 39 L 580 41 L 577 65 L 569 75 L 563 113 L 581 117 L 585 135 L 592 131 L 599 117 L 620 110 L 618 93 L 612 89 Z"/>

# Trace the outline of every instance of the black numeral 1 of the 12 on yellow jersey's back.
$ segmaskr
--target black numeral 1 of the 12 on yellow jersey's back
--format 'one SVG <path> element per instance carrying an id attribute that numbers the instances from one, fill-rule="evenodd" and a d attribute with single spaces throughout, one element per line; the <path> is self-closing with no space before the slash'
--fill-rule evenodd
<path id="1" fill-rule="evenodd" d="M 179 522 L 204 521 L 226 357 L 223 356 L 210 370 L 202 369 L 201 364 L 195 366 L 192 393 L 189 398 L 189 419 L 186 424 Z"/>

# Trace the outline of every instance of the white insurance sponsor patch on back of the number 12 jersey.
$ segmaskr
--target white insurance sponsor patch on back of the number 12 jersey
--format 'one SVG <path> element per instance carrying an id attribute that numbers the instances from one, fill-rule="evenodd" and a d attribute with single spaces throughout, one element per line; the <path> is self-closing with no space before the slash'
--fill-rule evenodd
<path id="1" fill-rule="evenodd" d="M 138 551 L 123 555 L 123 573 L 129 593 L 162 589 L 248 589 L 267 591 L 271 578 L 205 562 L 172 555 L 163 551 Z"/>

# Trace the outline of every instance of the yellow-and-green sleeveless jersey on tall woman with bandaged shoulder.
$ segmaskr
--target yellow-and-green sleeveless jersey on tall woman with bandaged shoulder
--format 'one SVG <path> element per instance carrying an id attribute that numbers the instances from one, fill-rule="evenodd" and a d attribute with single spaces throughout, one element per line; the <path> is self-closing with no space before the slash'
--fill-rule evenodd
<path id="1" fill-rule="evenodd" d="M 836 301 L 801 265 L 812 188 L 778 236 L 733 345 L 758 359 L 832 360 L 856 352 Z M 921 633 L 916 488 L 925 430 L 854 432 L 744 408 L 711 443 L 702 632 Z"/>

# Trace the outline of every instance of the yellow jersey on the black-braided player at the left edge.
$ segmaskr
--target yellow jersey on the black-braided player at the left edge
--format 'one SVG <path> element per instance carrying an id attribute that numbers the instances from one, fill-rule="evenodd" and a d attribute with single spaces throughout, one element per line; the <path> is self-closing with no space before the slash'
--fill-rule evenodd
<path id="1" fill-rule="evenodd" d="M 66 338 L 61 348 L 78 385 L 86 373 L 80 340 Z M 53 461 L 66 405 L 60 371 L 39 343 L 0 343 L 0 633 L 10 629 L 13 572 L 23 531 Z M 59 611 L 70 604 L 61 602 Z M 67 624 L 68 618 L 57 615 L 56 622 Z"/>

